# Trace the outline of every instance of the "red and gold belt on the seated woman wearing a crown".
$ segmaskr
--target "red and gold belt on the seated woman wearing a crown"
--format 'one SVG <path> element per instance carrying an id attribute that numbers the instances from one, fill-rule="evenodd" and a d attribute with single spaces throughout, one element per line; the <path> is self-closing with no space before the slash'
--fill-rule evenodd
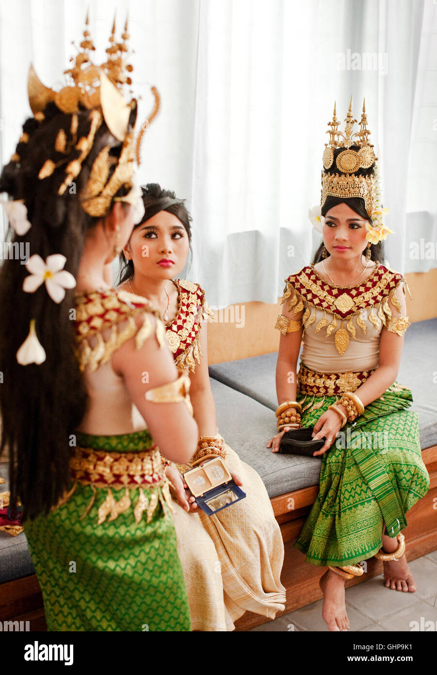
<path id="1" fill-rule="evenodd" d="M 354 373 L 316 373 L 300 362 L 297 373 L 297 388 L 301 394 L 314 396 L 338 396 L 345 391 L 355 391 L 363 382 L 374 373 L 370 371 L 355 371 Z"/>

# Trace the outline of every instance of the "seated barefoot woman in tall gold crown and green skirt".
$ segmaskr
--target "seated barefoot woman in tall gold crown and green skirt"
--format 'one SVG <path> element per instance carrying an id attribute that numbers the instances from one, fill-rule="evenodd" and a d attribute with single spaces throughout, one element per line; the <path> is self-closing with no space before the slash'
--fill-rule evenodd
<path id="1" fill-rule="evenodd" d="M 384 560 L 386 587 L 415 591 L 401 531 L 429 487 L 417 413 L 407 410 L 411 391 L 395 381 L 409 326 L 405 279 L 382 264 L 390 230 L 365 108 L 356 134 L 352 101 L 345 121 L 339 132 L 334 109 L 322 207 L 310 211 L 323 242 L 312 265 L 286 279 L 276 321 L 279 433 L 267 445 L 277 452 L 299 425 L 324 439 L 314 452 L 320 491 L 295 545 L 307 562 L 328 566 L 320 585 L 329 630 L 349 630 L 344 581 L 363 574 L 358 563 L 372 556 Z"/>

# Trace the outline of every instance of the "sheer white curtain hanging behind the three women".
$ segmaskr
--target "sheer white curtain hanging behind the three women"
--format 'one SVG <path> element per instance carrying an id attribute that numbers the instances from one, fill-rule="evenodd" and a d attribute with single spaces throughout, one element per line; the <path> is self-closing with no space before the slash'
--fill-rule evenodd
<path id="1" fill-rule="evenodd" d="M 139 124 L 162 107 L 144 137 L 142 182 L 187 198 L 194 255 L 187 275 L 210 304 L 275 302 L 283 279 L 308 264 L 320 236 L 308 208 L 320 201 L 326 123 L 366 97 L 379 145 L 386 258 L 421 271 L 411 241 L 437 240 L 437 5 L 433 0 L 94 0 L 90 31 L 103 60 L 115 9 L 129 10 Z M 1 157 L 28 115 L 32 61 L 45 84 L 80 41 L 86 1 L 0 3 Z"/>

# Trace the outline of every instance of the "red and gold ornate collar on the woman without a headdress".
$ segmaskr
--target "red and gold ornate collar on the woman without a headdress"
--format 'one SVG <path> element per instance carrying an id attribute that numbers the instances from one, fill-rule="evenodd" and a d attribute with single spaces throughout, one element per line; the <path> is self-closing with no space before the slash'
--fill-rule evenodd
<path id="1" fill-rule="evenodd" d="M 179 293 L 179 307 L 173 321 L 165 326 L 167 342 L 176 367 L 194 371 L 200 363 L 200 328 L 203 319 L 213 316 L 199 284 L 186 279 L 173 279 Z"/>

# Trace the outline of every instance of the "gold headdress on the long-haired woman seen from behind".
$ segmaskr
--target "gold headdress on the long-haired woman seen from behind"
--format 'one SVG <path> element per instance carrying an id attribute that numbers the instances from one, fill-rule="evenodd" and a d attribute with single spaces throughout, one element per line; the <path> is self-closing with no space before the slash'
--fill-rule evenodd
<path id="1" fill-rule="evenodd" d="M 110 155 L 110 144 L 100 151 L 98 157 L 94 160 L 88 184 L 81 196 L 84 211 L 94 217 L 101 217 L 107 213 L 113 196 L 121 186 L 132 188 L 135 155 L 138 164 L 140 164 L 142 136 L 158 113 L 160 98 L 156 88 L 152 87 L 155 99 L 154 109 L 142 125 L 140 134 L 138 134 L 135 153 L 134 126 L 137 101 L 134 98 L 126 101 L 123 97 L 123 88 L 132 84 L 129 74 L 133 70 L 132 65 L 127 63 L 126 60 L 127 41 L 129 39 L 127 19 L 120 42 L 117 42 L 115 37 L 114 19 L 109 47 L 106 50 L 107 61 L 100 66 L 92 63 L 90 59 L 90 52 L 94 51 L 95 47 L 90 38 L 88 25 L 87 14 L 84 39 L 80 43 L 78 55 L 71 59 L 73 61 L 72 67 L 64 71 L 64 74 L 69 78 L 68 84 L 58 92 L 54 91 L 42 84 L 31 65 L 28 78 L 28 95 L 30 109 L 38 121 L 43 121 L 45 107 L 51 101 L 63 113 L 72 115 L 69 132 L 73 140 L 68 143 L 65 130 L 59 130 L 55 140 L 55 150 L 58 153 L 68 155 L 75 148 L 80 151 L 80 156 L 66 163 L 65 180 L 59 187 L 58 194 L 63 194 L 80 173 L 82 163 L 90 153 L 96 132 L 103 121 L 105 121 L 111 134 L 117 140 L 123 142 L 118 161 Z M 78 139 L 76 134 L 78 117 L 76 113 L 83 109 L 90 110 L 91 126 L 88 136 Z M 26 138 L 22 137 L 21 140 L 26 142 Z M 17 161 L 19 157 L 15 155 L 13 159 Z M 65 163 L 65 160 L 55 163 L 52 159 L 47 159 L 40 168 L 38 178 L 40 180 L 48 178 L 55 168 L 63 163 Z M 111 168 L 115 163 L 115 169 L 111 173 Z M 120 199 L 129 201 L 129 196 Z"/>

